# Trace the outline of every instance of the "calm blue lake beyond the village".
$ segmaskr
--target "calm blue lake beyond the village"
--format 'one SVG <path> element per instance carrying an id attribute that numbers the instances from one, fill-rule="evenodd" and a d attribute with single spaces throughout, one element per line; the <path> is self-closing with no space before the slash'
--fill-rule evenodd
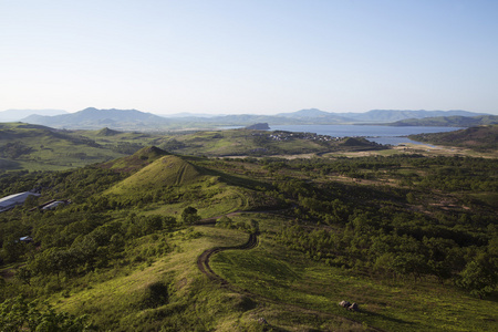
<path id="1" fill-rule="evenodd" d="M 315 133 L 332 137 L 361 136 L 380 144 L 398 145 L 405 143 L 422 144 L 412 141 L 407 135 L 423 133 L 443 133 L 461 129 L 460 127 L 423 127 L 423 126 L 374 126 L 374 125 L 274 125 L 271 131 L 287 131 L 300 133 Z"/>

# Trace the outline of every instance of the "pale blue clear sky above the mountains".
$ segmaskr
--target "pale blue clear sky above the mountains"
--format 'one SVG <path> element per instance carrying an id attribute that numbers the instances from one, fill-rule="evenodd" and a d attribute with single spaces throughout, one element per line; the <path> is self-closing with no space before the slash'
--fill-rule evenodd
<path id="1" fill-rule="evenodd" d="M 0 111 L 498 114 L 496 0 L 0 0 Z"/>

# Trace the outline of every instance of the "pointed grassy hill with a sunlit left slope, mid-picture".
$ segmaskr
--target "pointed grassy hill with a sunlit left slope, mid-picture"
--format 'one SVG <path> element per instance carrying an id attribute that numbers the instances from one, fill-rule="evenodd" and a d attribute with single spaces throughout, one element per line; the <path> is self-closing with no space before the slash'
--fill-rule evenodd
<path id="1" fill-rule="evenodd" d="M 112 165 L 111 169 L 126 173 L 136 167 L 136 160 L 147 164 L 108 188 L 104 193 L 105 199 L 117 206 L 148 205 L 148 214 L 177 214 L 181 208 L 193 206 L 203 218 L 268 207 L 274 201 L 253 191 L 266 184 L 205 168 L 206 163 L 196 158 L 165 154 L 156 147 L 147 147 L 115 163 L 103 164 L 105 168 Z M 147 158 L 153 160 L 146 162 Z"/>

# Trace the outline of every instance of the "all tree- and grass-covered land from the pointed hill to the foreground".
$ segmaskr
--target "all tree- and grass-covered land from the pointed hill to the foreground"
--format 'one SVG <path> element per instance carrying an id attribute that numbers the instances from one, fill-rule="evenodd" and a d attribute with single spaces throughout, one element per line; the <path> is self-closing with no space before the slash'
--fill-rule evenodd
<path id="1" fill-rule="evenodd" d="M 273 153 L 292 145 L 283 137 L 297 139 L 242 133 L 251 142 L 245 146 Z M 209 135 L 236 134 L 197 134 L 197 142 L 206 147 L 220 142 Z M 377 148 L 314 137 L 317 151 Z M 191 139 L 175 144 L 193 148 Z M 20 315 L 14 308 L 38 312 L 38 325 L 50 317 L 74 331 L 485 331 L 497 322 L 496 159 L 232 159 L 151 147 L 83 168 L 0 177 L 3 196 L 33 188 L 40 198 L 0 214 L 0 323 Z M 37 208 L 52 199 L 71 203 Z M 217 225 L 203 226 L 209 219 Z M 205 249 L 240 245 L 255 229 L 257 249 L 212 260 L 240 292 L 197 270 Z M 20 241 L 24 236 L 33 241 Z M 444 305 L 432 304 L 427 315 L 423 303 L 434 293 Z M 9 300 L 19 295 L 24 307 Z M 363 310 L 343 311 L 342 297 Z M 34 299 L 51 304 L 29 304 Z M 269 324 L 258 323 L 261 317 Z"/>

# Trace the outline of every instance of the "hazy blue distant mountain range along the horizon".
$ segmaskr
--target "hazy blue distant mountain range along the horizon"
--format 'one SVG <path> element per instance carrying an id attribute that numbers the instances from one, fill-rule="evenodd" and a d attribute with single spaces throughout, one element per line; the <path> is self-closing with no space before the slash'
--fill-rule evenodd
<path id="1" fill-rule="evenodd" d="M 0 113 L 1 114 L 1 113 Z M 58 115 L 33 114 L 22 122 L 45 125 L 54 128 L 97 129 L 108 127 L 121 131 L 160 131 L 186 128 L 216 128 L 222 126 L 248 126 L 256 123 L 271 125 L 318 125 L 318 124 L 387 124 L 405 120 L 427 117 L 471 117 L 486 115 L 467 111 L 396 111 L 373 110 L 365 113 L 331 113 L 317 108 L 301 110 L 277 115 L 187 115 L 165 117 L 137 110 L 97 110 L 85 108 L 75 113 Z M 396 124 L 407 125 L 407 124 Z M 427 124 L 424 124 L 427 125 Z M 452 125 L 438 121 L 437 125 Z M 458 126 L 461 126 L 458 124 Z"/>

